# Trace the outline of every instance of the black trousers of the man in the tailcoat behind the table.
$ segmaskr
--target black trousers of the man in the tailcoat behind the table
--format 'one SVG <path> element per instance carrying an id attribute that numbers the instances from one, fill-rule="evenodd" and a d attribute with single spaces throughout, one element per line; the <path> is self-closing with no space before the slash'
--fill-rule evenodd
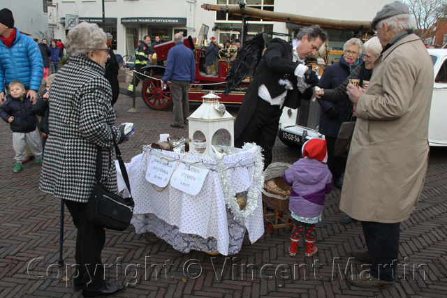
<path id="1" fill-rule="evenodd" d="M 256 111 L 251 117 L 240 137 L 235 140 L 235 147 L 241 148 L 244 143 L 255 142 L 264 151 L 264 169 L 272 163 L 274 140 L 278 133 L 279 117 L 282 109 L 279 105 L 270 105 L 262 98 L 258 98 Z M 243 115 L 237 115 L 243 117 Z"/>

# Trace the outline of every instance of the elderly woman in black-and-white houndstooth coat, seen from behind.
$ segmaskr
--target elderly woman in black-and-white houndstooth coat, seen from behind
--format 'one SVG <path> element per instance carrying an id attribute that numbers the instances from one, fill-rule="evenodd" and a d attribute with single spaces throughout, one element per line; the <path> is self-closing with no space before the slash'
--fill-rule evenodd
<path id="1" fill-rule="evenodd" d="M 122 292 L 122 284 L 105 283 L 101 272 L 101 251 L 105 230 L 88 220 L 87 202 L 96 184 L 96 154 L 101 148 L 101 182 L 117 192 L 115 148 L 124 142 L 124 126 L 115 127 L 116 115 L 110 104 L 112 90 L 104 78 L 107 38 L 96 24 L 83 22 L 66 38 L 69 63 L 61 68 L 50 87 L 50 137 L 40 188 L 64 200 L 78 229 L 75 260 L 75 290 L 84 297 L 101 297 Z M 95 268 L 99 268 L 95 271 Z"/>

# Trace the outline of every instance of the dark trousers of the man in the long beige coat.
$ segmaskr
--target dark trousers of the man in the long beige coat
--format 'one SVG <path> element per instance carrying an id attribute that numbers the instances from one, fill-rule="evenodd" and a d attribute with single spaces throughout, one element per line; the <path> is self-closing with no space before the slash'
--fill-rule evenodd
<path id="1" fill-rule="evenodd" d="M 395 281 L 399 256 L 400 223 L 362 221 L 372 266 L 369 273 L 381 281 Z"/>

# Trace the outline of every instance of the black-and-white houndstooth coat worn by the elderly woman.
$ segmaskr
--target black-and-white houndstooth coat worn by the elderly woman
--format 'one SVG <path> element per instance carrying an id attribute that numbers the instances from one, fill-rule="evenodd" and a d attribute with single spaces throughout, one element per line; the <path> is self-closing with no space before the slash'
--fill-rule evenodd
<path id="1" fill-rule="evenodd" d="M 101 183 L 117 193 L 115 147 L 116 115 L 112 108 L 112 89 L 104 69 L 95 61 L 71 57 L 50 87 L 50 136 L 40 188 L 58 198 L 87 203 L 96 184 L 97 146 L 103 154 Z"/>

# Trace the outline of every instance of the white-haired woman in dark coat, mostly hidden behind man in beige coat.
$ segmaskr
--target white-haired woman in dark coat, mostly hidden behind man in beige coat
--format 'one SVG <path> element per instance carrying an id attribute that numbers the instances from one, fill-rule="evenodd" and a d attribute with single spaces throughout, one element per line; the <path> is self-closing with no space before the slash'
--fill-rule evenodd
<path id="1" fill-rule="evenodd" d="M 374 68 L 374 62 L 377 60 L 379 55 L 382 52 L 382 45 L 379 41 L 379 38 L 374 36 L 373 38 L 369 39 L 365 44 L 362 46 L 362 57 L 363 61 L 360 63 L 358 67 L 356 67 L 351 75 L 347 77 L 347 79 L 340 84 L 335 89 L 328 89 L 328 90 L 320 90 L 316 91 L 316 98 L 321 98 L 321 100 L 325 100 L 331 103 L 340 103 L 345 102 L 345 100 L 349 100 L 348 94 L 346 94 L 346 87 L 349 84 L 349 80 L 360 80 L 359 86 L 363 89 L 367 89 L 369 84 L 369 79 L 372 75 L 372 70 Z M 356 108 L 356 104 L 353 105 L 354 109 Z M 344 158 L 344 167 L 346 167 L 346 158 Z M 351 216 L 345 216 L 340 221 L 344 225 L 348 225 L 352 221 L 355 221 Z"/>

